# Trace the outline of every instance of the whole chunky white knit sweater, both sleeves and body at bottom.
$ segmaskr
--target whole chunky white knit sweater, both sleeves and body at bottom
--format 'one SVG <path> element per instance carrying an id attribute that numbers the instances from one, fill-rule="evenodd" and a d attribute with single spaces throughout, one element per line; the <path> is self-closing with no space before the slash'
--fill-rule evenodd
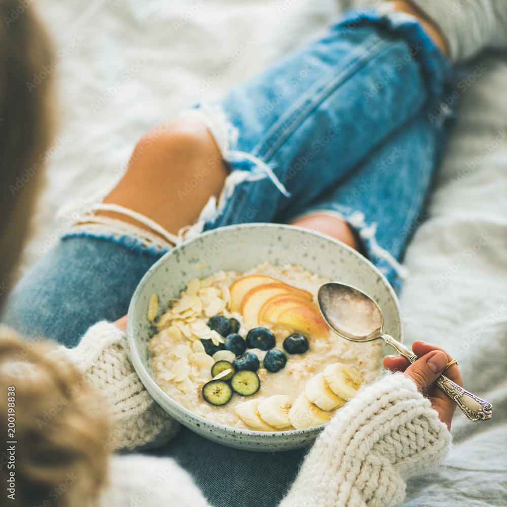
<path id="1" fill-rule="evenodd" d="M 125 333 L 99 322 L 75 349 L 60 349 L 98 388 L 115 422 L 113 448 L 161 444 L 177 423 L 151 399 L 128 357 Z M 402 374 L 363 388 L 317 439 L 280 507 L 392 506 L 405 496 L 405 479 L 437 465 L 451 437 L 431 404 Z M 170 458 L 113 456 L 98 507 L 132 501 L 144 507 L 200 507 L 206 500 Z"/>

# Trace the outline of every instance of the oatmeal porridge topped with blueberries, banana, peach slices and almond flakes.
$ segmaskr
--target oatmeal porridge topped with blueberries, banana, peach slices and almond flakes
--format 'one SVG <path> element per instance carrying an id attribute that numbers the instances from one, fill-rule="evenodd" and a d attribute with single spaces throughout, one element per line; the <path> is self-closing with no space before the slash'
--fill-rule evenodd
<path id="1" fill-rule="evenodd" d="M 300 265 L 268 263 L 194 278 L 154 322 L 155 381 L 183 407 L 228 426 L 277 431 L 327 422 L 382 363 L 380 343 L 329 330 L 315 303 L 327 281 Z"/>

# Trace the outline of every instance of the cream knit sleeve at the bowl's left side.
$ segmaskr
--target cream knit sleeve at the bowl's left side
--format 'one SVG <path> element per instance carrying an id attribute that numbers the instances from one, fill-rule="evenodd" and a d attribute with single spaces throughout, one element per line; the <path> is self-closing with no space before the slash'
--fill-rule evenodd
<path id="1" fill-rule="evenodd" d="M 93 325 L 76 348 L 60 347 L 58 353 L 101 394 L 102 410 L 113 423 L 104 446 L 112 450 L 157 447 L 176 434 L 179 424 L 142 385 L 130 362 L 126 335 L 114 324 Z"/>

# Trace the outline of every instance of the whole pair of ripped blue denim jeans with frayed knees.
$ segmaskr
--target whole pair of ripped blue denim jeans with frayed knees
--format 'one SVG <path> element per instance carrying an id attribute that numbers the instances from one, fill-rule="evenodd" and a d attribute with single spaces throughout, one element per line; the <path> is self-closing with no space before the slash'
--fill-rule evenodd
<path id="1" fill-rule="evenodd" d="M 410 16 L 351 11 L 222 100 L 198 104 L 186 114 L 208 126 L 231 174 L 192 234 L 334 213 L 399 287 L 397 260 L 422 218 L 442 151 L 444 121 L 431 113 L 449 73 Z M 128 235 L 68 233 L 15 287 L 4 322 L 28 338 L 73 347 L 91 324 L 127 312 L 137 283 L 162 253 Z M 269 507 L 306 451 L 240 451 L 183 428 L 149 452 L 174 457 L 215 507 Z"/>

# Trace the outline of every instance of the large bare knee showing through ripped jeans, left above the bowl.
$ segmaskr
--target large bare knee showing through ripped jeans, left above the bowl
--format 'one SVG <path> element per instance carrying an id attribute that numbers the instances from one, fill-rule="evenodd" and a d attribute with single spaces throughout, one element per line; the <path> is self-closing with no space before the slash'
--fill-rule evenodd
<path id="1" fill-rule="evenodd" d="M 102 202 L 132 209 L 177 234 L 196 222 L 211 196 L 218 198 L 228 173 L 206 127 L 190 117 L 175 118 L 139 140 L 126 173 Z M 97 214 L 136 223 L 113 211 Z"/>

